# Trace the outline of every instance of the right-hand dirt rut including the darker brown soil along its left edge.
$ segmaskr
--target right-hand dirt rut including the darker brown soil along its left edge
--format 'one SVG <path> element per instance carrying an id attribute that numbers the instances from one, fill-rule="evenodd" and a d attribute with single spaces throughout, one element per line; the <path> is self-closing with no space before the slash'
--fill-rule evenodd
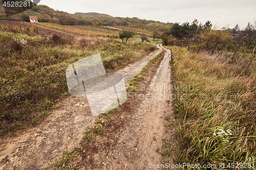
<path id="1" fill-rule="evenodd" d="M 167 132 L 164 127 L 167 123 L 165 116 L 173 119 L 172 102 L 169 100 L 172 95 L 171 52 L 161 48 L 165 55 L 159 67 L 155 68 L 157 70 L 153 68 L 148 72 L 145 83 L 141 84 L 143 87 L 124 104 L 128 106 L 122 107 L 122 112 L 111 119 L 110 126 L 117 126 L 119 130 L 109 130 L 108 134 L 90 143 L 88 155 L 79 164 L 81 169 L 144 170 L 151 164 L 162 164 L 163 138 L 170 141 L 174 138 L 172 132 Z"/>

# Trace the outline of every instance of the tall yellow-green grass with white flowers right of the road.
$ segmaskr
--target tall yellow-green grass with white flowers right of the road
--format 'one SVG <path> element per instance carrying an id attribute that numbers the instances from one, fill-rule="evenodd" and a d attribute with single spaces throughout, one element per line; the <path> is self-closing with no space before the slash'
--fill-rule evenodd
<path id="1" fill-rule="evenodd" d="M 228 64 L 225 54 L 171 48 L 173 90 L 180 96 L 174 102 L 176 161 L 211 169 L 256 169 L 256 67 L 239 74 L 243 63 Z"/>

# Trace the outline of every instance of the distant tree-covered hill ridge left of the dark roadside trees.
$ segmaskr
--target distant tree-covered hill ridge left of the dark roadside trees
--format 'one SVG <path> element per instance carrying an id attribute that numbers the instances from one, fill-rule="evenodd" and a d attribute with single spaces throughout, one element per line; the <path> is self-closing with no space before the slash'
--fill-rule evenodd
<path id="1" fill-rule="evenodd" d="M 172 23 L 169 22 L 164 23 L 154 20 L 139 19 L 137 17 L 113 17 L 107 14 L 92 12 L 69 14 L 63 11 L 55 11 L 46 5 L 37 5 L 31 10 L 38 13 L 36 16 L 38 19 L 40 18 L 41 21 L 54 22 L 61 25 L 127 26 L 160 32 L 172 26 Z M 35 14 L 33 13 L 33 15 Z"/>

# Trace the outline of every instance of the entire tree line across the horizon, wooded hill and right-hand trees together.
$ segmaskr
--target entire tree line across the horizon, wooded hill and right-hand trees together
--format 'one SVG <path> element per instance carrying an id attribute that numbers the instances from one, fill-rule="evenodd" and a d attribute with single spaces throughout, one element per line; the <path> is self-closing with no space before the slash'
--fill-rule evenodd
<path id="1" fill-rule="evenodd" d="M 189 44 L 189 46 L 195 48 L 195 50 L 231 51 L 242 41 L 240 43 L 241 46 L 247 45 L 249 50 L 255 51 L 256 21 L 254 21 L 254 23 L 248 23 L 244 29 L 241 29 L 238 24 L 233 29 L 216 29 L 212 28 L 210 21 L 206 21 L 202 24 L 201 22 L 199 23 L 197 19 L 191 23 L 164 23 L 154 20 L 139 19 L 137 17 L 113 17 L 107 14 L 93 12 L 69 14 L 63 11 L 55 11 L 46 5 L 35 6 L 28 10 L 28 13 L 15 16 L 16 18 L 3 18 L 2 15 L 0 19 L 29 21 L 29 11 L 32 11 L 33 15 L 35 12 L 38 14 L 39 22 L 53 22 L 61 25 L 123 26 L 150 30 L 152 31 L 153 39 L 162 38 L 163 44 L 165 45 Z M 141 35 L 142 41 L 147 41 L 147 36 L 148 35 Z"/>

